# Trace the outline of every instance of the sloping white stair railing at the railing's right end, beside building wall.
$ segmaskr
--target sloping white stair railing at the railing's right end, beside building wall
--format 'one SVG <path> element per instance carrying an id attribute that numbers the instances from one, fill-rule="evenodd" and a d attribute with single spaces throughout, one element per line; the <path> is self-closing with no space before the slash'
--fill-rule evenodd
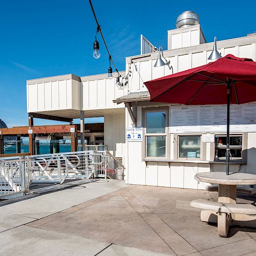
<path id="1" fill-rule="evenodd" d="M 110 179 L 123 180 L 124 169 L 120 163 L 109 151 L 105 154 L 105 176 Z"/>

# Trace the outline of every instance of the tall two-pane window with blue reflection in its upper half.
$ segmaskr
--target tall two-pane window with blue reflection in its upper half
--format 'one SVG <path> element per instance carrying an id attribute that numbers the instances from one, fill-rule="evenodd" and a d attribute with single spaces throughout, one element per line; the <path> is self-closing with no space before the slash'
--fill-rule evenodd
<path id="1" fill-rule="evenodd" d="M 167 110 L 145 111 L 145 157 L 167 158 Z"/>

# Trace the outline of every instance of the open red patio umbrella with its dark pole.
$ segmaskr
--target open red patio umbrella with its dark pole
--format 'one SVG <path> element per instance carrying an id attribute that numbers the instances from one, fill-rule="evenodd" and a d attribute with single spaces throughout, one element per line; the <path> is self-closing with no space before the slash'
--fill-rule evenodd
<path id="1" fill-rule="evenodd" d="M 185 105 L 227 104 L 227 175 L 229 108 L 256 101 L 256 62 L 231 54 L 207 65 L 144 82 L 151 101 Z"/>

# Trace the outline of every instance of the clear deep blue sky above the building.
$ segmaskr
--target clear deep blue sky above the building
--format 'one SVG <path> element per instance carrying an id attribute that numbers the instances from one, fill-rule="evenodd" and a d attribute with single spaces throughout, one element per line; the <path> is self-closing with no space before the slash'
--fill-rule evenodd
<path id="1" fill-rule="evenodd" d="M 207 42 L 256 31 L 254 1 L 92 2 L 118 70 L 124 70 L 125 56 L 140 54 L 140 34 L 166 49 L 167 30 L 186 10 L 199 14 Z M 101 57 L 92 56 L 96 23 L 88 0 L 1 0 L 0 10 L 0 118 L 8 127 L 28 124 L 27 79 L 108 72 L 99 36 Z M 35 121 L 46 123 L 58 122 Z"/>

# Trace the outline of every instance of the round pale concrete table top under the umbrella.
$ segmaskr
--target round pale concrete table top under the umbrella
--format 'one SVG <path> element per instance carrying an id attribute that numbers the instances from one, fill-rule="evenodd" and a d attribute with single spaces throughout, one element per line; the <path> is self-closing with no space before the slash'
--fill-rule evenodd
<path id="1" fill-rule="evenodd" d="M 253 185 L 256 184 L 255 174 L 230 173 L 226 175 L 224 172 L 208 172 L 195 175 L 198 181 L 223 184 L 223 185 Z"/>

